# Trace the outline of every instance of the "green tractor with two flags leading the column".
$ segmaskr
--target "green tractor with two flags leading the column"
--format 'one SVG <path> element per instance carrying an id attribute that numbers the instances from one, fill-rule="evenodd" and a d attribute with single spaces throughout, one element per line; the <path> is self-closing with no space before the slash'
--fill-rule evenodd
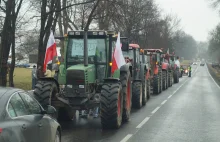
<path id="1" fill-rule="evenodd" d="M 76 110 L 99 107 L 101 124 L 119 128 L 128 121 L 131 111 L 131 74 L 124 65 L 111 73 L 114 32 L 69 31 L 64 37 L 65 56 L 58 80 L 40 78 L 35 98 L 46 108 L 58 110 L 58 120 L 72 120 Z M 128 43 L 122 44 L 128 50 Z"/>

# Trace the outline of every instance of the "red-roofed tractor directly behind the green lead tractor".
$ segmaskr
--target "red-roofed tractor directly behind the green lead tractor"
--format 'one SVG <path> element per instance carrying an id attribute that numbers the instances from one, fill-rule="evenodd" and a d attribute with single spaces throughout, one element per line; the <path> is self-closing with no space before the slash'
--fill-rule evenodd
<path id="1" fill-rule="evenodd" d="M 126 38 L 123 40 L 126 40 Z M 150 92 L 150 84 L 146 79 L 146 64 L 141 58 L 141 49 L 138 44 L 129 44 L 129 50 L 122 51 L 132 76 L 132 106 L 140 109 L 143 105 L 146 105 L 147 100 L 150 98 L 148 93 Z"/>

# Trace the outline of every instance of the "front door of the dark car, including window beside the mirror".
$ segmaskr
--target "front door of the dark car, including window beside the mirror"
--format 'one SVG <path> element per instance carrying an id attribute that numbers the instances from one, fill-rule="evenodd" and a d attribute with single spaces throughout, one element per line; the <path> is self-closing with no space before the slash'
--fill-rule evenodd
<path id="1" fill-rule="evenodd" d="M 19 92 L 20 96 L 28 106 L 29 111 L 34 116 L 34 123 L 37 124 L 38 140 L 40 142 L 50 142 L 51 139 L 51 118 L 42 113 L 39 103 L 25 92 Z"/>

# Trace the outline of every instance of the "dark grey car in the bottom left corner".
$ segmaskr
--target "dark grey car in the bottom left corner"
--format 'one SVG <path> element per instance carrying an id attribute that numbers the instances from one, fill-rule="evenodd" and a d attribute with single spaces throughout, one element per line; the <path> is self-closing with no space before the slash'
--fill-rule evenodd
<path id="1" fill-rule="evenodd" d="M 28 93 L 0 87 L 0 142 L 60 142 L 56 109 L 42 106 Z"/>

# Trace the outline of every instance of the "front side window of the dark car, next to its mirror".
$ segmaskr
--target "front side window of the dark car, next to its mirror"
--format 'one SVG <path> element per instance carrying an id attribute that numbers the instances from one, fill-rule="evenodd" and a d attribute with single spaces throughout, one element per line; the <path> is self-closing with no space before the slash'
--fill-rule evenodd
<path id="1" fill-rule="evenodd" d="M 19 93 L 25 104 L 28 106 L 29 111 L 31 114 L 41 114 L 41 107 L 37 103 L 36 100 L 34 100 L 32 97 L 30 97 L 26 93 Z"/>

